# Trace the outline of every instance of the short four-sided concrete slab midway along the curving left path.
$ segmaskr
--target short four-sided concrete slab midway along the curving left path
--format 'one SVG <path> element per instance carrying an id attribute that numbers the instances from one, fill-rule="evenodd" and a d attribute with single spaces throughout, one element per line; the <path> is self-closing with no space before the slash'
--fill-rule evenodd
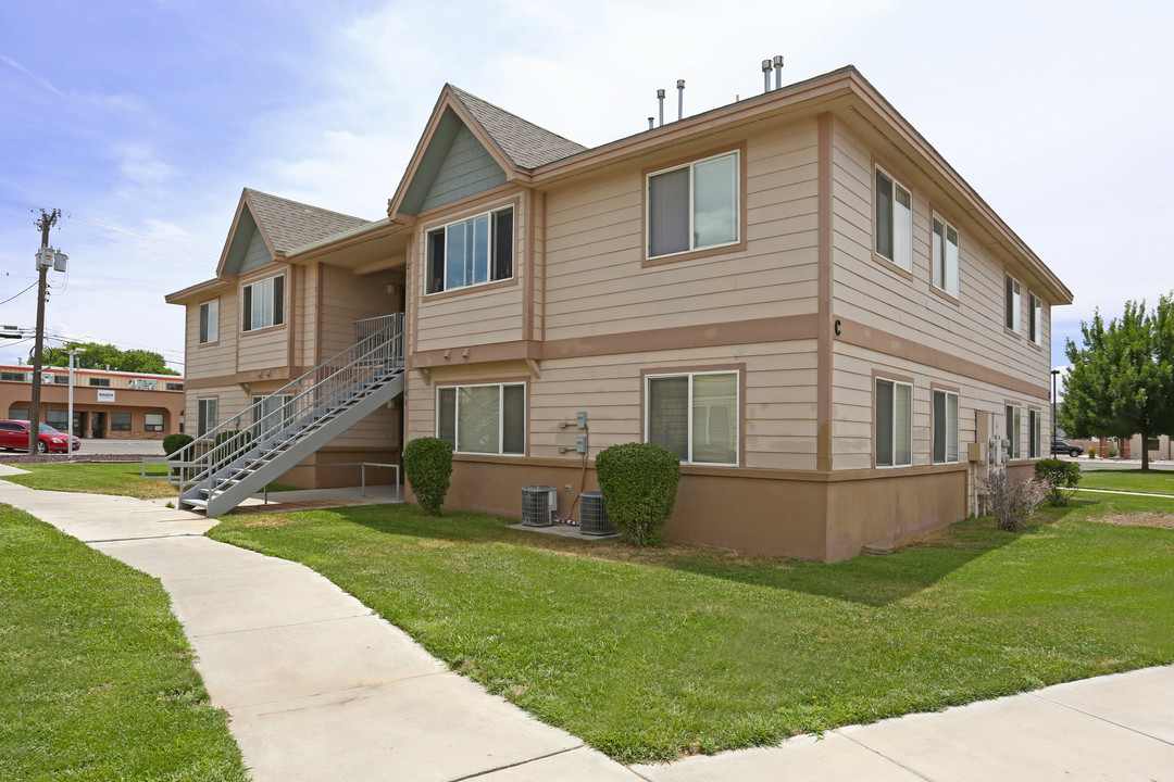
<path id="1" fill-rule="evenodd" d="M 197 635 L 191 645 L 212 702 L 227 709 L 447 671 L 376 616 Z"/>

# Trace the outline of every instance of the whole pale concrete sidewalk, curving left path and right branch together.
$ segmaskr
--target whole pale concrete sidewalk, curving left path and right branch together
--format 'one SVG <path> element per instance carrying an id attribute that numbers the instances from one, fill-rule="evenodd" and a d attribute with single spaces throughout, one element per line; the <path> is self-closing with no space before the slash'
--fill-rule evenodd
<path id="1" fill-rule="evenodd" d="M 625 768 L 452 673 L 313 571 L 203 537 L 202 516 L 7 481 L 0 502 L 160 578 L 258 782 L 1174 782 L 1174 667 Z"/>

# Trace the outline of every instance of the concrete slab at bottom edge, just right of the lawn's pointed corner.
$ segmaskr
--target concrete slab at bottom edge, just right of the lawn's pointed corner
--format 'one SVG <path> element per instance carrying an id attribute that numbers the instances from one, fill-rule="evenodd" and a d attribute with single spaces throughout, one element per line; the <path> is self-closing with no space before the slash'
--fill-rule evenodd
<path id="1" fill-rule="evenodd" d="M 777 747 L 686 757 L 667 766 L 633 766 L 649 782 L 713 780 L 819 780 L 821 782 L 924 782 L 924 777 L 837 733 L 796 736 Z"/>

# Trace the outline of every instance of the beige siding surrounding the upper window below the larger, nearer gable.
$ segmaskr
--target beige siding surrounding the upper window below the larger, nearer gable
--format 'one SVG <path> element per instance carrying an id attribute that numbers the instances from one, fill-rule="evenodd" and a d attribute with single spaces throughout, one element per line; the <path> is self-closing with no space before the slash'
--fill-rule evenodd
<path id="1" fill-rule="evenodd" d="M 528 273 L 526 237 L 526 199 L 529 195 L 510 193 L 492 202 L 459 212 L 445 212 L 443 217 L 421 219 L 413 238 L 413 263 L 411 295 L 417 307 L 414 349 L 443 351 L 471 345 L 492 345 L 522 339 L 522 311 L 525 284 Z M 427 232 L 448 223 L 480 215 L 502 206 L 514 206 L 514 260 L 513 279 L 508 283 L 494 281 L 485 286 L 457 288 L 434 295 L 425 295 L 425 270 L 427 267 Z"/>

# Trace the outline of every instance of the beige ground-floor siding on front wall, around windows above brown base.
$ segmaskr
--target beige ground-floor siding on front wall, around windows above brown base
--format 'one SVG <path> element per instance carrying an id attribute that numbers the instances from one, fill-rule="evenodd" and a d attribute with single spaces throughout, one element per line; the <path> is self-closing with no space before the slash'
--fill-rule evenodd
<path id="1" fill-rule="evenodd" d="M 561 429 L 559 422 L 573 422 L 579 410 L 587 412 L 592 456 L 615 443 L 641 441 L 642 370 L 740 363 L 745 365 L 744 467 L 814 469 L 815 340 L 546 360 L 541 378 L 527 380 L 527 455 L 574 461 L 573 453 L 559 454 L 559 448 L 573 450 L 579 431 Z M 434 434 L 437 386 L 522 378 L 524 368 L 504 362 L 434 370 L 431 386 L 412 373 L 407 438 Z"/>

